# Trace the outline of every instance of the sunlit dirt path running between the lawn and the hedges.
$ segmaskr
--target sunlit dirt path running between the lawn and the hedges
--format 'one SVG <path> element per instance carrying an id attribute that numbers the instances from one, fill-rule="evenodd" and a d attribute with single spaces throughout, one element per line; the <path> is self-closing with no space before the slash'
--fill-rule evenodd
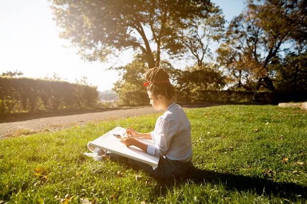
<path id="1" fill-rule="evenodd" d="M 208 107 L 221 104 L 189 103 L 180 104 L 184 109 Z M 22 136 L 41 131 L 59 131 L 70 126 L 82 125 L 87 122 L 100 122 L 103 120 L 120 119 L 151 113 L 163 113 L 155 111 L 152 106 L 142 106 L 130 109 L 106 110 L 106 111 L 84 111 L 74 113 L 34 113 L 15 114 L 13 116 L 1 115 L 0 139 L 11 136 Z"/>

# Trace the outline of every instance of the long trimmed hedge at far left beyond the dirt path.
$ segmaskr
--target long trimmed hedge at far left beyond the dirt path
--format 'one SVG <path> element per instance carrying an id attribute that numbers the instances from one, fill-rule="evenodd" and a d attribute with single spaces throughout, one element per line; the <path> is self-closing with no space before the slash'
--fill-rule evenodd
<path id="1" fill-rule="evenodd" d="M 0 113 L 90 108 L 97 87 L 31 78 L 0 77 Z"/>

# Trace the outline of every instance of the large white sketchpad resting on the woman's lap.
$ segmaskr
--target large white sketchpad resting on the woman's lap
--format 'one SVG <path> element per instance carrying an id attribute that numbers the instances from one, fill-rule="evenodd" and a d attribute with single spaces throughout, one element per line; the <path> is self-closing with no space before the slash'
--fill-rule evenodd
<path id="1" fill-rule="evenodd" d="M 159 158 L 153 155 L 146 153 L 145 151 L 141 150 L 135 146 L 126 147 L 122 142 L 119 141 L 114 135 L 123 136 L 126 132 L 125 128 L 116 127 L 113 130 L 109 131 L 108 133 L 100 136 L 99 138 L 91 141 L 87 144 L 89 150 L 95 152 L 95 147 L 100 149 L 109 151 L 111 153 L 115 153 L 117 155 L 121 155 L 130 159 L 134 159 L 137 161 L 141 161 L 147 163 L 155 169 L 158 166 Z M 146 144 L 153 144 L 152 140 L 147 139 L 140 139 L 140 142 Z"/>

